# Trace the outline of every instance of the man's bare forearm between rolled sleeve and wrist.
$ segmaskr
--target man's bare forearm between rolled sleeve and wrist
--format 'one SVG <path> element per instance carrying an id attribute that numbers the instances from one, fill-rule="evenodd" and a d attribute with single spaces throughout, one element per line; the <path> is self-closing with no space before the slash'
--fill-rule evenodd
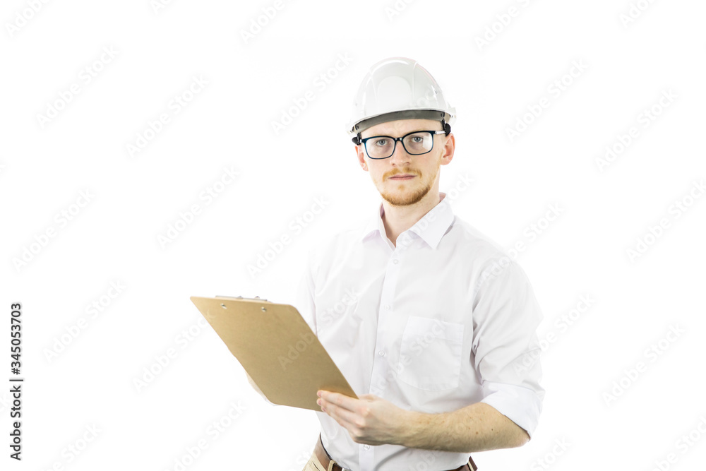
<path id="1" fill-rule="evenodd" d="M 486 403 L 441 414 L 410 412 L 402 446 L 425 450 L 476 451 L 514 448 L 530 440 L 527 432 Z"/>

